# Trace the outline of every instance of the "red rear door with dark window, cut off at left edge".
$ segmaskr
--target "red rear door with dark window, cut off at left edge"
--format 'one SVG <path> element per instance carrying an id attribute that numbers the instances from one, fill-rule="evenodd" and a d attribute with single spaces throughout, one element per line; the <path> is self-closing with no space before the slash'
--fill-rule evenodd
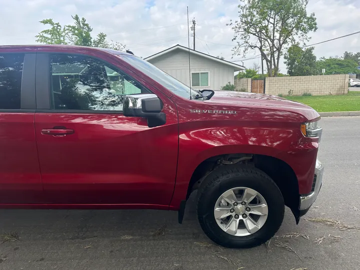
<path id="1" fill-rule="evenodd" d="M 36 48 L 0 48 L 0 203 L 39 203 L 35 113 Z"/>

